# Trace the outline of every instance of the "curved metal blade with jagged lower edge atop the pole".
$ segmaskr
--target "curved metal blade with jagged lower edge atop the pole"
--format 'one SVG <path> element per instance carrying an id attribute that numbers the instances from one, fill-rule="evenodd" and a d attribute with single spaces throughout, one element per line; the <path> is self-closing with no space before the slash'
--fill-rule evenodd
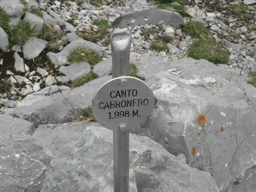
<path id="1" fill-rule="evenodd" d="M 166 26 L 172 24 L 174 27 L 184 27 L 184 21 L 180 14 L 154 8 L 146 8 L 120 16 L 113 21 L 113 27 L 124 28 L 144 24 L 157 24 L 160 21 L 163 21 Z"/>

